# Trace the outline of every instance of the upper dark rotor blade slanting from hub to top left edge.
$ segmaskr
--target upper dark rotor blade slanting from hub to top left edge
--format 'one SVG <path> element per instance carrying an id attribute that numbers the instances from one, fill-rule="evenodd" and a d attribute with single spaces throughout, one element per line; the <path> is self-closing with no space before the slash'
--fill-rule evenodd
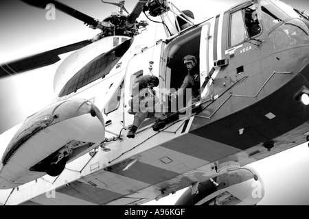
<path id="1" fill-rule="evenodd" d="M 93 27 L 98 26 L 98 21 L 95 21 L 95 18 L 92 18 L 87 14 L 83 14 L 82 12 L 79 12 L 78 10 L 75 10 L 65 4 L 62 4 L 59 1 L 55 0 L 21 0 L 21 1 L 43 9 L 46 8 L 47 4 L 52 3 L 55 5 L 57 10 L 61 10 L 62 12 L 65 12 L 66 14 L 69 14 L 80 21 L 84 21 L 84 23 L 87 23 L 88 25 L 91 25 Z"/>

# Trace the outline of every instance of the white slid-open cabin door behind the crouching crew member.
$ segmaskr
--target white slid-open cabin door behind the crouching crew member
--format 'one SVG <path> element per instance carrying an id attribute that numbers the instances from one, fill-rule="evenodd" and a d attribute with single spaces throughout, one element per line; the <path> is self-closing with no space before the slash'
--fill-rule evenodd
<path id="1" fill-rule="evenodd" d="M 159 78 L 159 86 L 155 87 L 157 96 L 161 96 L 161 84 L 165 83 L 162 77 L 159 77 L 159 70 L 161 66 L 161 51 L 163 44 L 161 41 L 157 42 L 154 46 L 146 49 L 141 49 L 141 46 L 135 47 L 135 56 L 131 58 L 126 70 L 124 79 L 124 126 L 132 125 L 134 114 L 129 114 L 130 106 L 128 102 L 132 99 L 133 83 L 143 75 L 155 75 Z M 151 62 L 151 64 L 150 64 Z M 146 118 L 145 121 L 149 120 Z"/>

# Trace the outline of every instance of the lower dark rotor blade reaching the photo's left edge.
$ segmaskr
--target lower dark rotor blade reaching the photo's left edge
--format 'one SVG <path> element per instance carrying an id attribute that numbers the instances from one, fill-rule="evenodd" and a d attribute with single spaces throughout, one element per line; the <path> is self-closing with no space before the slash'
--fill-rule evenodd
<path id="1" fill-rule="evenodd" d="M 83 40 L 80 42 L 69 44 L 65 47 L 60 47 L 58 49 L 38 53 L 36 55 L 25 57 L 10 63 L 3 63 L 0 66 L 0 78 L 9 75 L 16 75 L 26 70 L 33 70 L 35 68 L 41 68 L 43 66 L 55 64 L 60 60 L 60 57 L 58 55 L 80 49 L 91 43 L 91 40 Z"/>

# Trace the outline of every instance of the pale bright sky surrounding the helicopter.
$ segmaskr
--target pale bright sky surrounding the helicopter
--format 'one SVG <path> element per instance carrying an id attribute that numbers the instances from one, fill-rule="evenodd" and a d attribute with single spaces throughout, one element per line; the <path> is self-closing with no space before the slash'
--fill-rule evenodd
<path id="1" fill-rule="evenodd" d="M 114 5 L 101 0 L 59 0 L 93 18 L 103 20 L 117 12 Z M 108 0 L 118 3 L 118 0 Z M 242 0 L 174 0 L 180 10 L 192 10 L 196 23 L 215 16 Z M 126 0 L 130 12 L 137 1 Z M 308 0 L 284 0 L 309 14 Z M 17 0 L 0 1 L 0 64 L 33 55 L 73 42 L 91 39 L 100 31 L 93 30 L 67 14 L 58 12 L 53 20 L 41 10 Z M 140 20 L 146 20 L 141 16 Z M 65 58 L 68 54 L 61 55 Z M 43 109 L 55 99 L 54 73 L 61 62 L 31 70 L 18 76 L 0 79 L 0 134 L 21 123 L 27 116 Z M 309 148 L 302 144 L 278 155 L 251 164 L 260 172 L 265 195 L 259 205 L 309 205 Z M 149 205 L 173 205 L 181 195 L 176 192 Z"/>

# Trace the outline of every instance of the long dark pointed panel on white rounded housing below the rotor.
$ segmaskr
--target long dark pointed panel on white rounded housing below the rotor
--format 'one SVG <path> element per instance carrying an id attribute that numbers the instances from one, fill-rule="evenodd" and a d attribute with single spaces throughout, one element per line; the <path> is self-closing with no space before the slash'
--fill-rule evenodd
<path id="1" fill-rule="evenodd" d="M 78 89 L 97 79 L 104 78 L 122 58 L 122 55 L 126 53 L 129 45 L 130 40 L 127 40 L 127 43 L 124 42 L 124 44 L 119 44 L 107 53 L 95 57 L 67 81 L 60 91 L 59 96 L 71 94 L 71 92 L 76 92 Z"/>

